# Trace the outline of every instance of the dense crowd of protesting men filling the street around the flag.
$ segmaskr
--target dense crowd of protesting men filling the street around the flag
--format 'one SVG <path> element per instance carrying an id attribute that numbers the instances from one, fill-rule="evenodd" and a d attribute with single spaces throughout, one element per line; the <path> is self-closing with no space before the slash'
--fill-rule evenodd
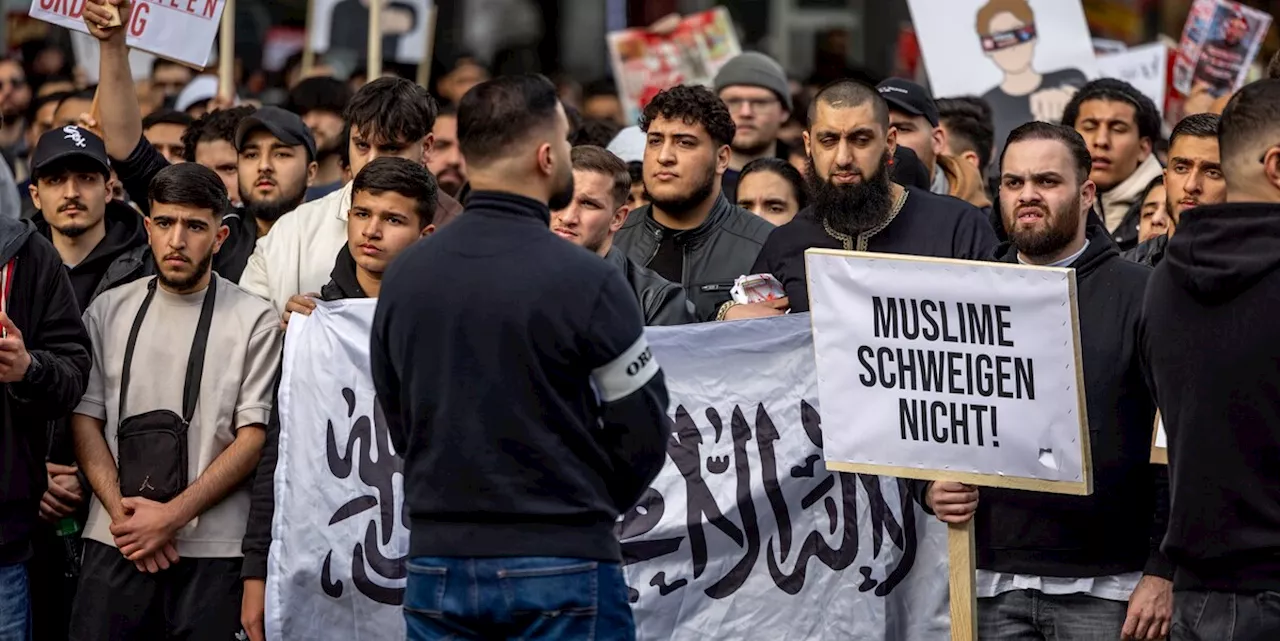
<path id="1" fill-rule="evenodd" d="M 540 75 L 252 106 L 168 63 L 137 91 L 108 4 L 96 88 L 0 61 L 0 640 L 265 638 L 284 330 L 352 298 L 408 637 L 634 638 L 614 523 L 671 432 L 644 328 L 806 312 L 809 248 L 1075 270 L 1093 494 L 913 484 L 977 519 L 980 638 L 1280 638 L 1280 79 L 1167 157 L 1123 81 L 996 139 L 983 99 L 797 92 L 758 52 L 630 127 Z M 754 274 L 785 296 L 736 301 Z"/>

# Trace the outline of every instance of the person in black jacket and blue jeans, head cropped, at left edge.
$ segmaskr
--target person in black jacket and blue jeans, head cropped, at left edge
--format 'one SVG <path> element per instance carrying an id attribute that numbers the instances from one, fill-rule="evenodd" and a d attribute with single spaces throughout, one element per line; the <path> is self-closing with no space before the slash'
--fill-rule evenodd
<path id="1" fill-rule="evenodd" d="M 28 638 L 26 563 L 47 487 L 46 425 L 70 413 L 91 367 L 58 251 L 0 218 L 0 637 Z"/>

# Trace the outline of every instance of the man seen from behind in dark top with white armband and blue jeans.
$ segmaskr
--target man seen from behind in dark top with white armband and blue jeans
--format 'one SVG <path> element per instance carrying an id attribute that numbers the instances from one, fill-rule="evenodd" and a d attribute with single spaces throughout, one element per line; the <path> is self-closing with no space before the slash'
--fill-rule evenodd
<path id="1" fill-rule="evenodd" d="M 549 229 L 568 136 L 547 78 L 468 91 L 466 209 L 383 280 L 370 367 L 404 455 L 410 640 L 635 637 L 614 525 L 666 459 L 667 386 L 622 274 Z"/>

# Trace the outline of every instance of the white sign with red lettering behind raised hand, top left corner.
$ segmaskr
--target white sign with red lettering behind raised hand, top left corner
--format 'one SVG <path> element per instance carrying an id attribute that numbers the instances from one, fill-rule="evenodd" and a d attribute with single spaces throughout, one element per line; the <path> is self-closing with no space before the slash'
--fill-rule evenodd
<path id="1" fill-rule="evenodd" d="M 227 0 L 152 0 L 134 3 L 128 44 L 133 49 L 204 68 L 209 64 Z M 31 17 L 81 33 L 84 0 L 32 0 Z"/>

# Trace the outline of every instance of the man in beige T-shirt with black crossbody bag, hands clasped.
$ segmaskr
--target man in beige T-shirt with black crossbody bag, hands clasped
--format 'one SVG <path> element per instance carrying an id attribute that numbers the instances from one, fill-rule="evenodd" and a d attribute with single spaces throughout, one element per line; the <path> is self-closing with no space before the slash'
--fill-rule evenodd
<path id="1" fill-rule="evenodd" d="M 221 641 L 239 631 L 243 481 L 280 329 L 265 301 L 211 271 L 230 207 L 212 170 L 164 169 L 150 201 L 156 276 L 84 313 L 95 366 L 72 429 L 93 502 L 70 636 Z"/>

